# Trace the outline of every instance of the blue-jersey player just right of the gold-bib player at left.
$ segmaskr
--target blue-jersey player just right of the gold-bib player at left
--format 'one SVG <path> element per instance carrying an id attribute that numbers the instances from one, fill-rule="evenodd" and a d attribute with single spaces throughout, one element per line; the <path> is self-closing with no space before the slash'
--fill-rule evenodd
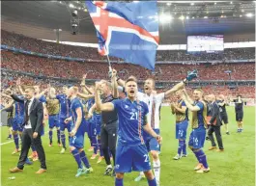
<path id="1" fill-rule="evenodd" d="M 61 142 L 62 142 L 62 149 L 61 154 L 65 153 L 67 146 L 66 146 L 66 135 L 65 135 L 65 129 L 67 128 L 69 134 L 71 133 L 71 121 L 65 123 L 65 120 L 71 117 L 71 100 L 68 98 L 68 87 L 64 86 L 62 88 L 61 94 L 52 94 L 49 93 L 49 98 L 51 99 L 58 99 L 60 102 L 60 114 L 59 114 L 59 120 L 60 120 L 60 134 L 61 134 Z M 69 137 L 70 141 L 70 137 Z"/>

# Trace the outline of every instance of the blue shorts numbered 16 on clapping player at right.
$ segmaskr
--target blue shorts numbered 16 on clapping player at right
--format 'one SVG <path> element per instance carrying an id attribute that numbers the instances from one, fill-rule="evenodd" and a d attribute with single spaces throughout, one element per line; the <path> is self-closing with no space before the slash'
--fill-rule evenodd
<path id="1" fill-rule="evenodd" d="M 188 146 L 193 148 L 202 148 L 204 147 L 206 140 L 206 129 L 204 126 L 195 128 L 191 131 Z"/>

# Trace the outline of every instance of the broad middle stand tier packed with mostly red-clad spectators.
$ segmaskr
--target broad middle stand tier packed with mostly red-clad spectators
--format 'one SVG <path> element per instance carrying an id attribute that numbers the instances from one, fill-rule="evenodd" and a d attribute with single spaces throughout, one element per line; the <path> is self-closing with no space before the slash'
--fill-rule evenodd
<path id="1" fill-rule="evenodd" d="M 152 73 L 141 66 L 130 64 L 113 64 L 117 69 L 120 78 L 126 79 L 129 75 L 134 75 L 138 80 L 153 77 L 156 81 L 180 81 L 187 71 L 197 69 L 198 80 L 254 80 L 254 63 L 223 63 L 217 65 L 183 65 L 183 64 L 157 64 L 156 71 Z M 30 72 L 35 75 L 44 75 L 60 78 L 80 78 L 84 73 L 88 73 L 88 79 L 105 79 L 108 77 L 108 65 L 106 63 L 93 62 L 68 62 L 14 54 L 10 51 L 2 51 L 1 67 L 16 71 Z M 232 71 L 229 75 L 226 70 Z"/>

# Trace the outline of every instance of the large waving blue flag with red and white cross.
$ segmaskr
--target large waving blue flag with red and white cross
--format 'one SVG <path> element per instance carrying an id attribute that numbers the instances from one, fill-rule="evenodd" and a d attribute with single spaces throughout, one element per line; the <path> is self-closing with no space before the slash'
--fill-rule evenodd
<path id="1" fill-rule="evenodd" d="M 100 55 L 155 69 L 159 42 L 156 1 L 86 1 L 97 31 Z"/>

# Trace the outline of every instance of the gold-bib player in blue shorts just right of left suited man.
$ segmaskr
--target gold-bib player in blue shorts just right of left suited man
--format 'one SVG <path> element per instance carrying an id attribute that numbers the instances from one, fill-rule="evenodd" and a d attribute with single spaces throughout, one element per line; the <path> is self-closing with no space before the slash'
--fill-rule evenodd
<path id="1" fill-rule="evenodd" d="M 51 95 L 56 94 L 54 88 L 50 88 L 49 92 Z M 52 146 L 52 129 L 54 126 L 57 129 L 58 146 L 61 146 L 60 142 L 60 101 L 58 99 L 50 99 L 49 96 L 46 98 L 46 109 L 48 113 L 48 124 L 49 124 L 49 146 Z"/>

